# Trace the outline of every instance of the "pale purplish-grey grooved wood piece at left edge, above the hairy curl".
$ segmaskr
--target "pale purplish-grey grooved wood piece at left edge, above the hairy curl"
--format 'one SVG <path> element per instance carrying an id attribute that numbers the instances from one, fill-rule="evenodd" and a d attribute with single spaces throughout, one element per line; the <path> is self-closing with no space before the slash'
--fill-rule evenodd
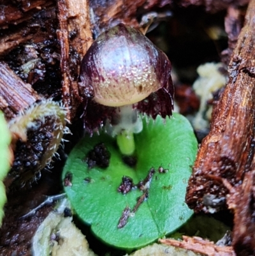
<path id="1" fill-rule="evenodd" d="M 20 79 L 6 63 L 0 62 L 0 109 L 6 119 L 32 105 L 40 96 Z"/>

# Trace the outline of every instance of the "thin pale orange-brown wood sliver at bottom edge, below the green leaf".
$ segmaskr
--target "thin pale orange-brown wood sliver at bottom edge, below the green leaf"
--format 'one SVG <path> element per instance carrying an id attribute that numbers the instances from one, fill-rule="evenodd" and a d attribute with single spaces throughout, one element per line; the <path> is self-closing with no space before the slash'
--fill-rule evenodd
<path id="1" fill-rule="evenodd" d="M 202 239 L 201 237 L 182 236 L 183 241 L 175 239 L 159 239 L 164 245 L 171 245 L 207 256 L 236 256 L 233 247 L 217 246 L 213 242 Z"/>

